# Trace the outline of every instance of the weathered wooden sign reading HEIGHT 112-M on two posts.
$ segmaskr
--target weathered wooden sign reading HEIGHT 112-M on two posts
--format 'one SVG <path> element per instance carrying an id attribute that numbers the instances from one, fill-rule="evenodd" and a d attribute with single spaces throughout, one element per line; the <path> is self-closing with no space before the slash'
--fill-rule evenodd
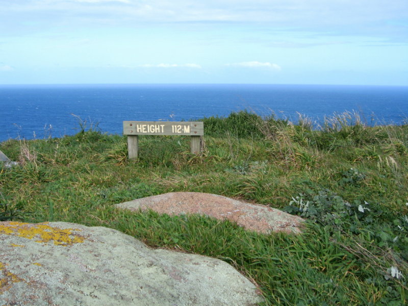
<path id="1" fill-rule="evenodd" d="M 204 122 L 123 121 L 123 135 L 127 135 L 130 160 L 138 157 L 138 135 L 188 135 L 191 136 L 190 151 L 198 154 L 202 151 Z"/>

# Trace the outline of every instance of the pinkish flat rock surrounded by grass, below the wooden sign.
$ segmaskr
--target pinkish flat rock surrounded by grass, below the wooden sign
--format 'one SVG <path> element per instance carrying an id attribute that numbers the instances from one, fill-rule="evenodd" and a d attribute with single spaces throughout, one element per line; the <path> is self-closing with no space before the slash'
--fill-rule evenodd
<path id="1" fill-rule="evenodd" d="M 228 219 L 247 230 L 300 233 L 303 219 L 265 205 L 255 205 L 222 195 L 200 192 L 170 192 L 116 205 L 132 211 L 151 209 L 169 215 L 200 214 Z"/>

